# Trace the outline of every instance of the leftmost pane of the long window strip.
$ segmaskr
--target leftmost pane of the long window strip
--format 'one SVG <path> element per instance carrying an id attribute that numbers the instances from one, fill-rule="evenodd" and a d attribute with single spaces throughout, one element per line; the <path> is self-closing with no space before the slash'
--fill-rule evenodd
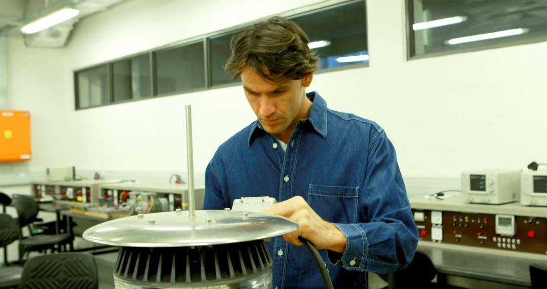
<path id="1" fill-rule="evenodd" d="M 100 106 L 108 103 L 107 65 L 76 73 L 77 108 Z"/>

